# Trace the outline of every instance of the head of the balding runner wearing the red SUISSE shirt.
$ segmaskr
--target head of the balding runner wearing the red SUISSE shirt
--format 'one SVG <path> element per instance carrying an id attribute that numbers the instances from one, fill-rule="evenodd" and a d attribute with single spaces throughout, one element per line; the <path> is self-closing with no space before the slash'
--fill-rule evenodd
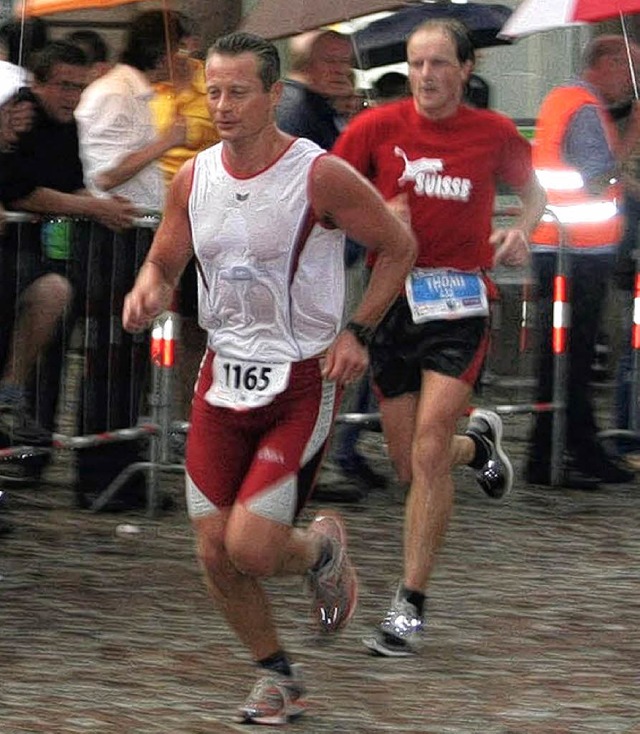
<path id="1" fill-rule="evenodd" d="M 434 120 L 454 114 L 472 64 L 458 61 L 451 38 L 437 28 L 417 31 L 407 45 L 407 61 L 418 112 Z"/>

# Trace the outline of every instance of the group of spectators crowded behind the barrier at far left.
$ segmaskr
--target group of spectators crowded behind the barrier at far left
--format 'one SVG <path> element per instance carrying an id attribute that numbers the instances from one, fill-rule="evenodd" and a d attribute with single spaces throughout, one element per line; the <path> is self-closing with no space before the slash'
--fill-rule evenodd
<path id="1" fill-rule="evenodd" d="M 81 317 L 78 432 L 137 422 L 146 344 L 119 322 L 152 231 L 133 224 L 161 213 L 171 173 L 217 137 L 184 16 L 139 15 L 117 61 L 94 31 L 53 41 L 42 21 L 21 25 L 0 34 L 0 224 L 5 207 L 39 217 L 7 226 L 0 250 L 0 444 L 48 447 L 64 353 Z M 89 504 L 139 450 L 79 452 L 78 503 Z M 46 462 L 21 462 L 23 478 L 38 480 Z M 144 486 L 134 484 L 113 509 L 144 501 Z"/>

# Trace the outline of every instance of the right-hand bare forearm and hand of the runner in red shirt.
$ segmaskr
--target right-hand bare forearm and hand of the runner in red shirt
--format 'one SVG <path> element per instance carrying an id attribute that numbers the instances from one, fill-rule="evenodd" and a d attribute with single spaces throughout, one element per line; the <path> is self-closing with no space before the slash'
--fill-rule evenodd
<path id="1" fill-rule="evenodd" d="M 520 267 L 529 259 L 529 237 L 540 220 L 546 205 L 544 189 L 535 175 L 518 192 L 522 210 L 513 227 L 496 229 L 489 242 L 495 248 L 493 264 Z"/>

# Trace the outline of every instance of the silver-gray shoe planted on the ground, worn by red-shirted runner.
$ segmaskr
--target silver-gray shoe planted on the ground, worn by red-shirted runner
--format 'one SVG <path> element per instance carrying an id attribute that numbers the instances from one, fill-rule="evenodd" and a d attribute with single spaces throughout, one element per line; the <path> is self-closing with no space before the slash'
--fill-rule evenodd
<path id="1" fill-rule="evenodd" d="M 424 619 L 406 599 L 396 594 L 387 616 L 378 625 L 371 637 L 362 642 L 371 652 L 385 657 L 408 657 L 415 655 L 422 644 Z"/>

